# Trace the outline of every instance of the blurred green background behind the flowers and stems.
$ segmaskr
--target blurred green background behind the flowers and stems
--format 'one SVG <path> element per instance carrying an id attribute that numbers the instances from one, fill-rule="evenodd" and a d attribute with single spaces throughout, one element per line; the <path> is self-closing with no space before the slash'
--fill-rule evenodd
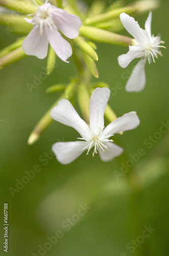
<path id="1" fill-rule="evenodd" d="M 92 1 L 86 2 L 90 5 Z M 130 170 L 119 180 L 115 175 L 115 170 L 120 172 L 120 163 L 126 163 L 124 155 L 108 163 L 101 162 L 99 156 L 93 158 L 92 154 L 83 154 L 69 165 L 58 163 L 50 155 L 51 145 L 57 141 L 76 140 L 77 133 L 70 127 L 53 122 L 37 143 L 27 145 L 33 127 L 57 97 L 46 95 L 45 89 L 54 83 L 67 83 L 74 75 L 71 58 L 69 65 L 58 60 L 58 68 L 32 94 L 26 83 L 33 83 L 34 75 L 39 76 L 46 59 L 27 57 L 1 70 L 1 255 L 5 255 L 3 212 L 6 202 L 9 204 L 10 256 L 167 255 L 168 133 L 157 139 L 151 149 L 144 141 L 159 132 L 161 122 L 166 123 L 169 119 L 168 8 L 168 1 L 162 0 L 160 8 L 153 11 L 152 32 L 154 35 L 161 33 L 167 49 L 162 49 L 163 57 L 159 57 L 156 64 L 146 65 L 147 84 L 142 92 L 127 93 L 124 89 L 127 80 L 123 74 L 134 66 L 134 61 L 122 69 L 117 57 L 126 53 L 127 48 L 97 44 L 99 80 L 107 82 L 111 88 L 117 82 L 123 86 L 111 97 L 109 104 L 118 116 L 136 111 L 141 121 L 137 129 L 125 132 L 123 136 L 116 135 L 114 139 L 121 143 L 129 159 L 139 148 L 144 149 L 144 156 L 134 164 L 134 174 L 137 174 L 134 177 L 137 178 L 132 182 L 133 188 L 128 183 Z M 145 13 L 136 17 L 141 27 L 144 27 L 147 16 Z M 3 49 L 17 36 L 8 34 L 2 26 L 0 30 L 0 48 Z M 128 35 L 126 31 L 122 33 Z M 9 187 L 16 188 L 18 180 L 26 176 L 25 170 L 28 172 L 36 165 L 40 172 L 12 197 Z M 135 188 L 140 183 L 142 186 Z M 79 205 L 85 203 L 91 208 L 78 217 Z M 68 222 L 69 218 L 74 221 L 66 231 L 63 222 Z M 150 225 L 155 230 L 143 238 L 145 228 Z M 47 237 L 56 236 L 59 230 L 62 238 L 49 248 L 50 245 L 45 244 L 49 242 Z M 127 248 L 127 244 L 131 246 L 131 240 L 136 240 L 136 245 Z M 39 245 L 49 247 L 39 254 Z"/>

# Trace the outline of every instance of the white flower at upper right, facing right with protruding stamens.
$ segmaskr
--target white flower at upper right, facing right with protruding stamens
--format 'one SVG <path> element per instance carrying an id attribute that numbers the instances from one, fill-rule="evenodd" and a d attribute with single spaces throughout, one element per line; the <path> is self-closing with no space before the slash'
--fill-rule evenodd
<path id="1" fill-rule="evenodd" d="M 124 28 L 135 38 L 135 40 L 133 40 L 134 45 L 129 46 L 128 53 L 118 57 L 118 62 L 122 68 L 126 68 L 134 58 L 142 58 L 133 69 L 126 84 L 126 91 L 139 92 L 144 89 L 146 84 L 146 60 L 148 59 L 150 64 L 152 60 L 155 62 L 155 58 L 158 58 L 157 54 L 162 56 L 159 48 L 165 48 L 164 46 L 160 46 L 160 43 L 164 42 L 160 40 L 160 37 L 151 35 L 152 12 L 149 13 L 146 20 L 145 30 L 139 27 L 133 17 L 130 17 L 124 12 L 120 14 L 120 19 Z"/>

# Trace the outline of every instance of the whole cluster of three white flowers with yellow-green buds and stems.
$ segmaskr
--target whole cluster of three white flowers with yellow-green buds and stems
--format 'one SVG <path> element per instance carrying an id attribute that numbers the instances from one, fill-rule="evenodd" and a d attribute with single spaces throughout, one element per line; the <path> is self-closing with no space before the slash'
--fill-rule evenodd
<path id="1" fill-rule="evenodd" d="M 36 5 L 37 3 L 41 4 L 39 0 L 37 2 L 33 0 L 33 2 Z M 77 138 L 78 141 L 57 142 L 52 146 L 52 151 L 59 162 L 62 164 L 71 163 L 84 151 L 87 151 L 88 155 L 92 147 L 94 148 L 93 156 L 99 153 L 102 161 L 110 161 L 123 152 L 123 148 L 116 145 L 111 137 L 116 133 L 135 129 L 139 125 L 139 119 L 136 112 L 130 112 L 117 118 L 110 106 L 107 105 L 110 95 L 108 86 L 104 82 L 96 82 L 95 84 L 91 82 L 90 73 L 96 78 L 99 76 L 95 63 L 98 60 L 95 51 L 97 47 L 93 40 L 129 47 L 126 54 L 118 57 L 119 65 L 122 68 L 126 68 L 133 59 L 140 58 L 127 81 L 126 91 L 142 91 L 146 84 L 146 62 L 148 61 L 150 64 L 152 61 L 155 62 L 158 55 L 162 56 L 160 49 L 165 48 L 161 45 L 164 41 L 160 39 L 160 36 L 154 36 L 151 33 L 151 11 L 146 20 L 145 29 L 140 28 L 135 19 L 125 12 L 136 14 L 139 12 L 139 7 L 140 12 L 146 10 L 145 3 L 148 6 L 147 10 L 151 10 L 151 5 L 154 8 L 155 4 L 152 4 L 152 1 L 137 1 L 133 5 L 121 8 L 121 4 L 118 7 L 117 3 L 116 10 L 107 8 L 102 10 L 102 13 L 100 13 L 101 10 L 99 13 L 96 10 L 96 15 L 95 10 L 91 8 L 85 15 L 82 15 L 83 22 L 81 22 L 81 19 L 77 16 L 81 14 L 81 10 L 78 11 L 80 5 L 76 7 L 75 3 L 72 4 L 73 1 L 67 1 L 67 7 L 65 5 L 62 9 L 58 8 L 62 7 L 62 1 L 55 2 L 58 7 L 47 2 L 48 0 L 41 6 L 36 6 L 23 0 L 23 9 L 20 11 L 18 8 L 19 1 L 0 0 L 0 6 L 9 9 L 9 13 L 11 13 L 11 10 L 15 12 L 15 18 L 13 19 L 10 14 L 4 14 L 3 11 L 3 14 L 0 14 L 0 24 L 7 23 L 8 20 L 8 25 L 10 24 L 14 31 L 25 32 L 24 38 L 19 38 L 14 44 L 0 51 L 0 69 L 26 55 L 44 59 L 48 54 L 48 46 L 50 45 L 47 59 L 49 68 L 46 68 L 46 73 L 50 74 L 54 67 L 55 55 L 61 60 L 69 62 L 67 59 L 72 55 L 71 44 L 74 43 L 75 45 L 73 60 L 79 76 L 71 78 L 67 85 L 54 84 L 54 86 L 47 89 L 48 92 L 64 91 L 64 93 L 60 97 L 61 100 L 58 99 L 53 104 L 54 108 L 52 105 L 52 108 L 39 121 L 30 135 L 28 143 L 33 144 L 53 118 L 73 127 L 81 136 L 81 138 Z M 70 14 L 65 9 L 68 12 L 73 11 L 77 15 Z M 121 13 L 122 10 L 123 13 Z M 19 16 L 19 13 L 28 14 L 32 18 L 24 18 L 24 20 L 23 16 Z M 118 20 L 117 17 L 119 16 L 120 19 Z M 115 33 L 120 30 L 121 23 L 134 38 Z M 31 86 L 31 88 L 35 88 L 34 85 L 31 84 Z M 90 98 L 91 91 L 94 92 Z M 80 118 L 69 101 L 75 96 L 75 92 L 77 92 L 78 103 L 86 122 Z M 108 112 L 106 109 L 108 109 Z M 107 118 L 109 124 L 106 127 L 104 126 L 104 113 L 106 117 L 109 115 Z"/>

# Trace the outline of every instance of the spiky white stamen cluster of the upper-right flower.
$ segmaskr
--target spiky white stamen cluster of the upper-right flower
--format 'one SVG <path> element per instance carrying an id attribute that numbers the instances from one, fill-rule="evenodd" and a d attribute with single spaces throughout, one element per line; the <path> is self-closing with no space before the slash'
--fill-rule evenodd
<path id="1" fill-rule="evenodd" d="M 148 57 L 149 64 L 151 63 L 151 58 L 155 63 L 155 58 L 158 59 L 157 54 L 162 56 L 162 53 L 161 51 L 159 51 L 159 48 L 165 48 L 165 46 L 160 46 L 160 44 L 164 44 L 164 41 L 161 41 L 160 37 L 156 36 L 154 37 L 153 41 L 150 42 L 150 44 L 143 50 L 143 52 L 145 52 L 145 57 Z"/>

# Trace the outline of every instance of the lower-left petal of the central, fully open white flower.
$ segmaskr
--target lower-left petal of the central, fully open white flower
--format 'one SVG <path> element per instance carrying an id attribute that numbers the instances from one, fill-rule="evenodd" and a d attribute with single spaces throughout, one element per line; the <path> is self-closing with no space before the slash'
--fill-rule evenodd
<path id="1" fill-rule="evenodd" d="M 57 142 L 52 145 L 52 151 L 62 164 L 69 164 L 79 157 L 87 145 L 85 141 Z"/>

